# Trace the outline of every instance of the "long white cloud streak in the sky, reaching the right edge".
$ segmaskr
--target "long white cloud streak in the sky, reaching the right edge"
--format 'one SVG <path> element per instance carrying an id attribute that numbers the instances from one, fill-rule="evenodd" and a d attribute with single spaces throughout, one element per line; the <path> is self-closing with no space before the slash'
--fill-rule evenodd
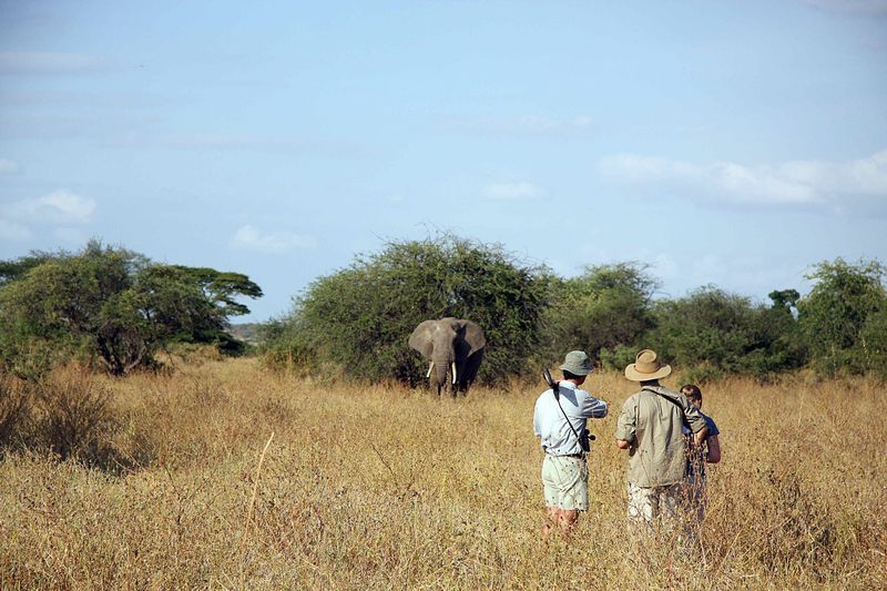
<path id="1" fill-rule="evenodd" d="M 736 204 L 836 204 L 850 196 L 887 197 L 887 150 L 849 162 L 793 161 L 772 166 L 703 165 L 619 154 L 601 160 L 598 169 L 620 182 Z"/>

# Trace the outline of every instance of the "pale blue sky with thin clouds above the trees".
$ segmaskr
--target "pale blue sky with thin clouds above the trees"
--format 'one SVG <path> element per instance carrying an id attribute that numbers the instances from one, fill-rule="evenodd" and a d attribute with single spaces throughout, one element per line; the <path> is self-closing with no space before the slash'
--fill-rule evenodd
<path id="1" fill-rule="evenodd" d="M 0 258 L 96 236 L 263 320 L 439 232 L 763 299 L 886 231 L 887 0 L 0 0 Z"/>

